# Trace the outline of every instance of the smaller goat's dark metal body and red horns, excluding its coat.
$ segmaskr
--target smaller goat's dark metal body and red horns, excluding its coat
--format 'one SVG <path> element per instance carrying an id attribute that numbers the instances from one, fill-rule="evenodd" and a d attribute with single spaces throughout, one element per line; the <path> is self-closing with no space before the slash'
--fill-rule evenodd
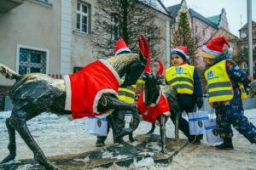
<path id="1" fill-rule="evenodd" d="M 181 113 L 180 106 L 178 105 L 177 98 L 176 98 L 176 91 L 173 88 L 170 88 L 168 85 L 163 85 L 163 65 L 158 60 L 160 64 L 160 69 L 157 73 L 151 72 L 149 68 L 150 59 L 148 59 L 145 71 L 143 73 L 143 80 L 145 81 L 144 86 L 144 103 L 145 105 L 152 105 L 157 103 L 157 99 L 159 99 L 161 93 L 163 93 L 167 100 L 168 104 L 171 109 L 171 114 L 177 114 Z M 169 115 L 170 116 L 170 115 Z M 160 116 L 158 116 L 156 119 L 160 124 L 160 137 L 161 137 L 161 152 L 166 153 L 166 126 L 165 123 L 169 117 L 168 115 L 165 115 L 162 113 Z M 177 123 L 176 123 L 176 138 L 177 138 Z M 154 133 L 155 125 L 152 124 L 152 128 L 148 133 Z M 148 134 L 147 133 L 147 134 Z M 132 137 L 132 133 L 129 134 L 129 139 L 131 142 L 134 141 Z"/>

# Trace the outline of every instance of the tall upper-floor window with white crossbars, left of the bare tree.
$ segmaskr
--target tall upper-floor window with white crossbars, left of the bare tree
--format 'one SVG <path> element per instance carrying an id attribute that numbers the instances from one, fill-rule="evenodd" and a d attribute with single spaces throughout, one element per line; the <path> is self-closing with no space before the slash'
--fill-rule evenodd
<path id="1" fill-rule="evenodd" d="M 89 6 L 84 3 L 78 3 L 77 6 L 77 31 L 89 33 Z"/>

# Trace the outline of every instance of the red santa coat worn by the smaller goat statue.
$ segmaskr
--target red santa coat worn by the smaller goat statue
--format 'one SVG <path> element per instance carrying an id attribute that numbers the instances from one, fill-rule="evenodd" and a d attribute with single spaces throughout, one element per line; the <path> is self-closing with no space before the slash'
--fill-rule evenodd
<path id="1" fill-rule="evenodd" d="M 137 101 L 137 107 L 138 110 L 143 114 L 143 121 L 154 123 L 156 118 L 161 114 L 170 115 L 171 108 L 165 94 L 163 94 L 161 91 L 155 104 L 145 105 L 144 101 L 144 92 L 142 92 Z"/>

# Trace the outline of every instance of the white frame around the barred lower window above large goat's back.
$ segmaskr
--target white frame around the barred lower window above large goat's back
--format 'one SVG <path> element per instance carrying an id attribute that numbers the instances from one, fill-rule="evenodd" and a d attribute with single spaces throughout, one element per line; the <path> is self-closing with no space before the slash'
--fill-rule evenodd
<path id="1" fill-rule="evenodd" d="M 32 46 L 27 46 L 27 45 L 22 45 L 22 44 L 18 44 L 17 45 L 17 51 L 16 51 L 16 72 L 19 72 L 19 68 L 20 68 L 20 48 L 26 48 L 28 50 L 35 50 L 35 51 L 41 51 L 41 52 L 45 52 L 46 54 L 46 72 L 45 74 L 49 73 L 49 49 L 45 49 L 45 48 L 36 48 L 36 47 L 32 47 Z"/>

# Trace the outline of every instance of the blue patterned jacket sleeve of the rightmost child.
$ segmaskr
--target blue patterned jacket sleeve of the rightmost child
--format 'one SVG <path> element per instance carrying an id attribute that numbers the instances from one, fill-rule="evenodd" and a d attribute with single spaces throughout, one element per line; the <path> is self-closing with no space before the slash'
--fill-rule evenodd
<path id="1" fill-rule="evenodd" d="M 226 69 L 231 81 L 241 82 L 245 87 L 248 87 L 248 84 L 253 81 L 253 77 L 248 76 L 231 59 L 227 60 Z"/>

